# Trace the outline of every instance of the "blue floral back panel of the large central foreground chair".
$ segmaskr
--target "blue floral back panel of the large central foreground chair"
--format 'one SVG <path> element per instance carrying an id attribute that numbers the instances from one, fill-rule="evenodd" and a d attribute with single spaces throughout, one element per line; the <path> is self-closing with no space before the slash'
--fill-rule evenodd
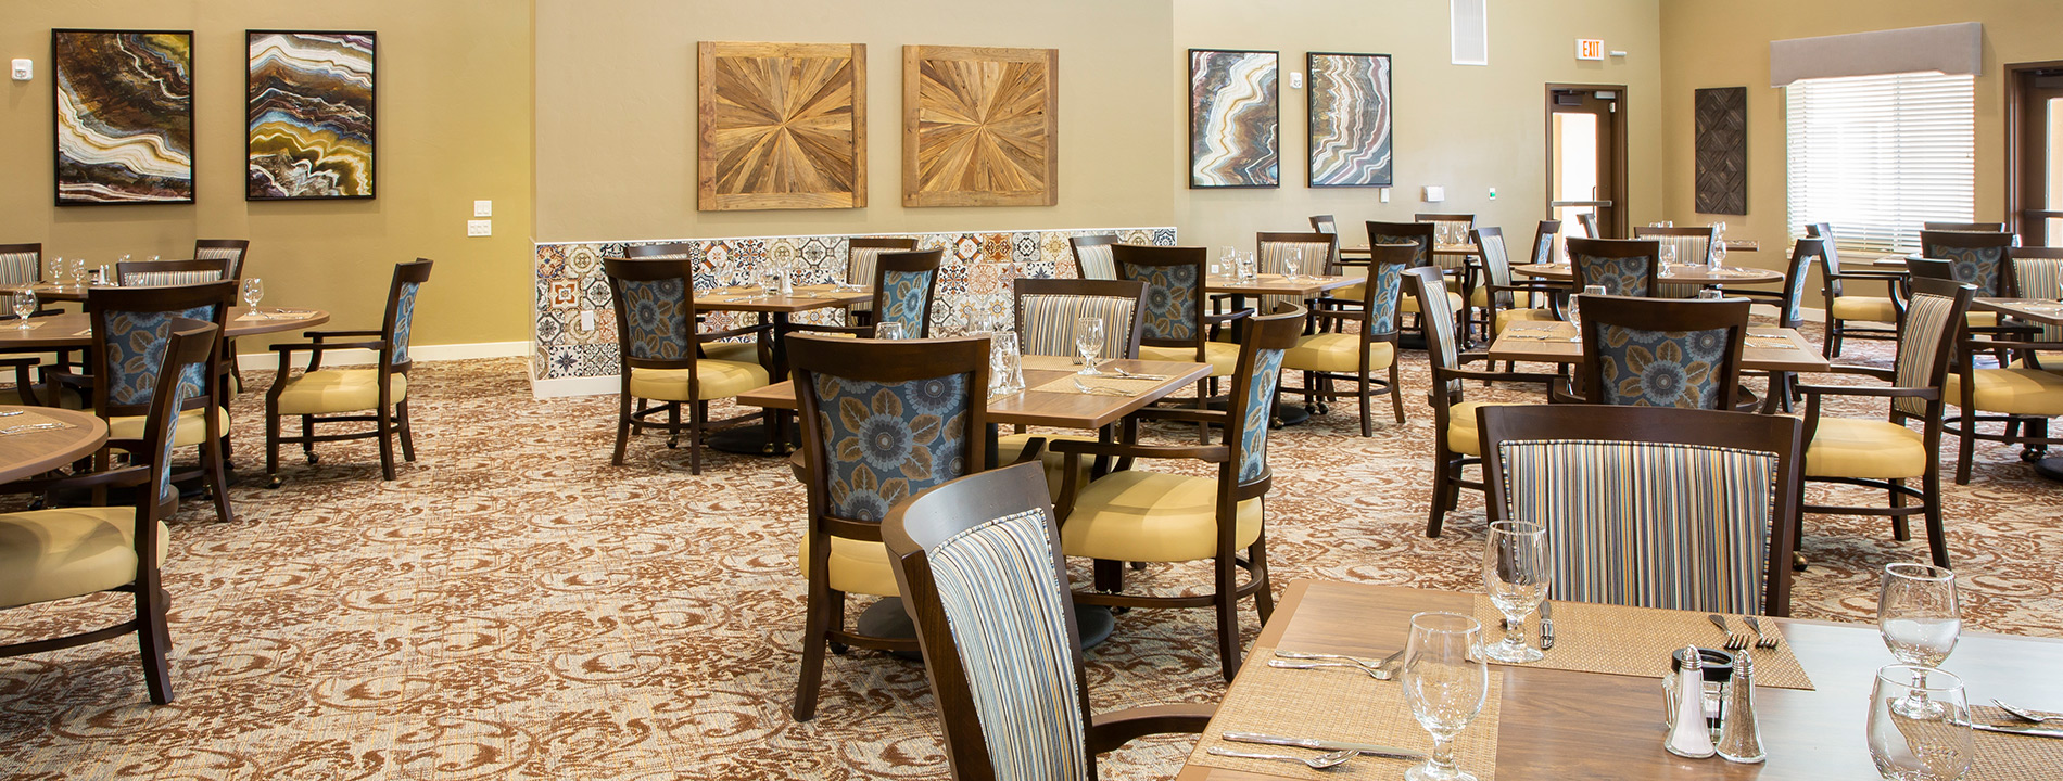
<path id="1" fill-rule="evenodd" d="M 815 375 L 831 515 L 879 523 L 968 470 L 968 375 L 873 383 Z"/>

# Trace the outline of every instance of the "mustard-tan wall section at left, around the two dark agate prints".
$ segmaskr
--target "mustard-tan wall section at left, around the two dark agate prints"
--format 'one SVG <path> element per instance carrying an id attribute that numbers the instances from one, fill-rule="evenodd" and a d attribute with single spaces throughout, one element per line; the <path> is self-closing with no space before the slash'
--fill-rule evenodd
<path id="1" fill-rule="evenodd" d="M 52 206 L 52 27 L 194 31 L 196 204 Z M 245 29 L 380 33 L 380 198 L 243 200 Z M 330 309 L 324 328 L 378 328 L 392 266 L 421 256 L 437 270 L 415 344 L 528 338 L 528 2 L 17 0 L 0 10 L 0 58 L 37 66 L 35 80 L 0 87 L 0 241 L 99 264 L 252 239 L 245 276 L 266 280 L 266 303 Z M 493 237 L 464 235 L 477 198 L 495 202 Z"/>

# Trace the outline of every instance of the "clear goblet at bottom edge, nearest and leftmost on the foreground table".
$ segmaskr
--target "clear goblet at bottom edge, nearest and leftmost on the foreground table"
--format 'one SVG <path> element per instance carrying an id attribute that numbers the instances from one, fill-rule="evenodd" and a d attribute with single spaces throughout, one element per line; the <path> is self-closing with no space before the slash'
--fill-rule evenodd
<path id="1" fill-rule="evenodd" d="M 1432 758 L 1405 771 L 1411 781 L 1475 781 L 1454 765 L 1454 736 L 1483 713 L 1489 664 L 1481 657 L 1483 626 L 1454 612 L 1411 616 L 1411 641 L 1399 678 L 1411 715 L 1432 734 Z"/>

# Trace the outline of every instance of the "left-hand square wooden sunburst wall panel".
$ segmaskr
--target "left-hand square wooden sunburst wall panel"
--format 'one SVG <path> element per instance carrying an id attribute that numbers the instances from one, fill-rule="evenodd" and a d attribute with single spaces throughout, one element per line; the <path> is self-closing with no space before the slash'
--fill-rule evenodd
<path id="1" fill-rule="evenodd" d="M 699 49 L 699 210 L 866 206 L 864 43 Z"/>

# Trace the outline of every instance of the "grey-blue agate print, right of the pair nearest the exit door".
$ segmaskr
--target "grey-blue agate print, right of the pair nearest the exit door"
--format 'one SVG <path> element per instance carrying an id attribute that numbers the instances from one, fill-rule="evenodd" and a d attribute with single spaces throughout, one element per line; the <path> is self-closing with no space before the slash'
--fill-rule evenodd
<path id="1" fill-rule="evenodd" d="M 1388 188 L 1390 161 L 1390 56 L 1308 56 L 1310 72 L 1310 185 Z"/>

